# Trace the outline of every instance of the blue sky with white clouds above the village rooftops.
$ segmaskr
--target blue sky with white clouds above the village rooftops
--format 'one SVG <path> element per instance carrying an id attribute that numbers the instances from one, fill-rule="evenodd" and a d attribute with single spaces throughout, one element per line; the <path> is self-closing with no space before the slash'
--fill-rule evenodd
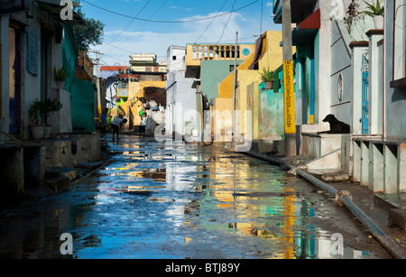
<path id="1" fill-rule="evenodd" d="M 105 54 L 101 59 L 107 65 L 128 64 L 131 53 L 154 53 L 158 60 L 166 60 L 170 45 L 234 43 L 235 32 L 239 42 L 254 43 L 261 32 L 281 30 L 270 17 L 272 0 L 81 0 L 81 4 L 88 17 L 106 24 L 105 43 L 91 50 Z M 237 11 L 230 14 L 232 10 Z"/>

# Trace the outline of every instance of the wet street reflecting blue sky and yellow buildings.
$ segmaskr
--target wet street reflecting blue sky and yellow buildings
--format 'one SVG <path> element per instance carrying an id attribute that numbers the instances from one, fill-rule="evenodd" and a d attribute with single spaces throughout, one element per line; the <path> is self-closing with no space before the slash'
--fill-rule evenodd
<path id="1" fill-rule="evenodd" d="M 268 162 L 131 135 L 107 142 L 106 167 L 0 218 L 1 258 L 390 258 L 328 194 Z M 71 255 L 60 253 L 64 233 Z"/>

